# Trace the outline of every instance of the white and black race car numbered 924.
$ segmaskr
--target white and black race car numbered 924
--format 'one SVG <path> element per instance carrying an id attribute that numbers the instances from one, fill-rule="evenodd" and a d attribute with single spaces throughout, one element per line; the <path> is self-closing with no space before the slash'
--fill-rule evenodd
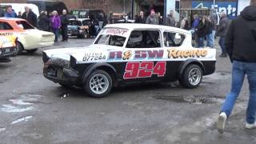
<path id="1" fill-rule="evenodd" d="M 179 81 L 196 88 L 213 74 L 216 50 L 191 46 L 191 33 L 170 26 L 111 24 L 92 45 L 43 51 L 43 75 L 104 97 L 113 86 Z"/>

